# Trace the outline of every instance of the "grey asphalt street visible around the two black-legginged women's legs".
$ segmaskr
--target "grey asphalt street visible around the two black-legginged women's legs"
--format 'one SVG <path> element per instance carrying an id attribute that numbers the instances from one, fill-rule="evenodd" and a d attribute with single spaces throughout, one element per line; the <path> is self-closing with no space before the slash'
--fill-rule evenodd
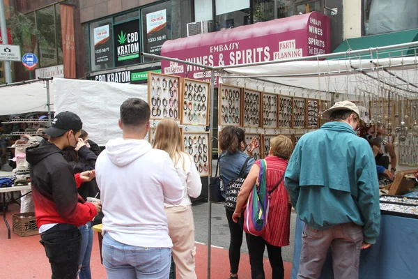
<path id="1" fill-rule="evenodd" d="M 194 202 L 193 216 L 195 227 L 195 240 L 198 243 L 208 244 L 208 209 L 207 202 Z M 293 246 L 295 243 L 295 220 L 296 213 L 291 215 L 291 239 L 290 246 L 282 248 L 281 255 L 284 262 L 293 262 Z M 228 250 L 229 248 L 229 227 L 225 216 L 224 204 L 212 203 L 212 246 L 217 246 Z M 241 252 L 248 254 L 247 243 L 243 236 Z M 268 257 L 267 250 L 264 253 Z"/>

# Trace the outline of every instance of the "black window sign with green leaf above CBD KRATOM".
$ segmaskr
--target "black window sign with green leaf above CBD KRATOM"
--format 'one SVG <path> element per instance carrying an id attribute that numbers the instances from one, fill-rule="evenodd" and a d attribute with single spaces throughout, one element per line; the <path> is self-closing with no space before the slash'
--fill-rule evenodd
<path id="1" fill-rule="evenodd" d="M 114 25 L 116 67 L 141 62 L 139 55 L 139 20 Z"/>

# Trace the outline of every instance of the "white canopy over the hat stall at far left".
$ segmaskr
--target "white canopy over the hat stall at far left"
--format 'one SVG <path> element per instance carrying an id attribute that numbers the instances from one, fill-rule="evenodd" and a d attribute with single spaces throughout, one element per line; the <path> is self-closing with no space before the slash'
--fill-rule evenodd
<path id="1" fill-rule="evenodd" d="M 50 102 L 53 104 L 52 84 L 52 82 L 49 82 Z M 51 110 L 54 110 L 53 106 Z M 40 81 L 0 87 L 0 115 L 29 112 L 48 112 L 46 82 Z"/>

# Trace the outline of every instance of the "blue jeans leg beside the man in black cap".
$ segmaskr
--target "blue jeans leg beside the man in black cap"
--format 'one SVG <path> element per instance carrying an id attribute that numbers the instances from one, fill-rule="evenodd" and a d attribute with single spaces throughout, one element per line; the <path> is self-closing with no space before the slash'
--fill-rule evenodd
<path id="1" fill-rule="evenodd" d="M 78 264 L 82 266 L 79 271 L 79 279 L 91 279 L 90 257 L 91 249 L 93 248 L 93 222 L 88 222 L 86 225 L 79 227 L 82 234 L 82 246 L 80 249 L 80 257 Z"/>

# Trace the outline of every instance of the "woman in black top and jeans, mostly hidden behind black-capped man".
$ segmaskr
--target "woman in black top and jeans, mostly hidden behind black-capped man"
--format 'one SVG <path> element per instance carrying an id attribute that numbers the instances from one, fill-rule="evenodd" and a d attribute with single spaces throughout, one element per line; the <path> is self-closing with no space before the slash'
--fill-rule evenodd
<path id="1" fill-rule="evenodd" d="M 86 170 L 95 169 L 95 162 L 98 156 L 90 150 L 88 144 L 88 133 L 82 130 L 79 142 L 74 148 L 69 146 L 63 150 L 64 158 L 71 165 L 74 173 L 85 172 Z M 78 188 L 79 195 L 86 200 L 87 197 L 95 197 L 98 193 L 98 185 L 95 179 L 84 182 Z M 93 249 L 93 220 L 79 227 L 82 234 L 82 246 L 79 257 L 79 279 L 91 279 L 90 258 Z"/>

